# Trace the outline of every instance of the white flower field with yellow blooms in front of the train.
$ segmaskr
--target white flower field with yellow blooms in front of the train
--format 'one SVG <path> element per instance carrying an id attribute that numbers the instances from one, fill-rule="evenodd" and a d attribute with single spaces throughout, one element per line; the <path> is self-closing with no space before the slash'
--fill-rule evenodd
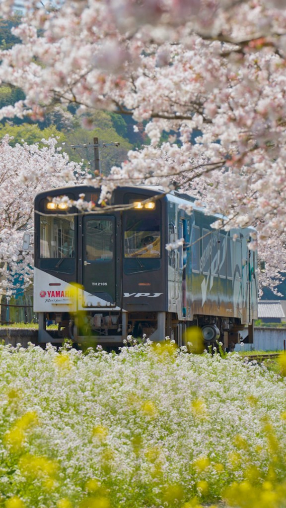
<path id="1" fill-rule="evenodd" d="M 0 346 L 0 506 L 285 506 L 285 378 L 174 344 Z"/>

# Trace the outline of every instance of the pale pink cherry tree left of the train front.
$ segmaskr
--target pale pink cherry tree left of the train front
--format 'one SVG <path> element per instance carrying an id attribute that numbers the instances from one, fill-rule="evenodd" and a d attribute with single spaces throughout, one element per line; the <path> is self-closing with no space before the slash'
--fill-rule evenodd
<path id="1" fill-rule="evenodd" d="M 17 284 L 23 287 L 32 278 L 32 250 L 23 250 L 23 234 L 31 232 L 33 238 L 35 195 L 45 188 L 81 182 L 85 175 L 56 147 L 55 139 L 43 140 L 42 148 L 38 144 L 12 148 L 9 139 L 5 136 L 0 144 L 0 294 L 8 297 Z"/>

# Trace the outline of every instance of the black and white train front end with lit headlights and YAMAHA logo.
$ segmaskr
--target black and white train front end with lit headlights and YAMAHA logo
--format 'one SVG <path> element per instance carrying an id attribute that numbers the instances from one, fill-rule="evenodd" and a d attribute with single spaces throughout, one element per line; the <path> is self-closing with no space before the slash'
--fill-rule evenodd
<path id="1" fill-rule="evenodd" d="M 155 189 L 124 187 L 113 193 L 113 208 L 95 207 L 88 213 L 61 200 L 67 196 L 77 201 L 84 195 L 96 204 L 99 194 L 99 189 L 79 186 L 36 197 L 34 310 L 39 342 L 70 338 L 118 346 L 128 335 L 144 334 L 164 340 L 164 199 L 155 198 Z"/>

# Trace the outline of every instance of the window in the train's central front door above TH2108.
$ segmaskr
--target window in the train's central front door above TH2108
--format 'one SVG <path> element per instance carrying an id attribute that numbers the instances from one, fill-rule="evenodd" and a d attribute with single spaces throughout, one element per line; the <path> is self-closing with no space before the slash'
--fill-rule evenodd
<path id="1" fill-rule="evenodd" d="M 113 222 L 106 218 L 89 218 L 85 223 L 85 259 L 113 258 Z"/>

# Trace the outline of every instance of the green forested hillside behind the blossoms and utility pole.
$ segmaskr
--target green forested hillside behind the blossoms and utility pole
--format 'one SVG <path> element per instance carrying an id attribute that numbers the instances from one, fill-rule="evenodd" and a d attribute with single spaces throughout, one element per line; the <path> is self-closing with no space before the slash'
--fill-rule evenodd
<path id="1" fill-rule="evenodd" d="M 19 23 L 19 15 L 9 20 L 0 19 L 0 48 L 11 48 L 21 43 L 11 28 Z M 20 88 L 3 83 L 0 86 L 0 108 L 14 105 L 25 98 Z M 55 137 L 59 147 L 71 161 L 82 162 L 84 167 L 94 171 L 94 138 L 99 139 L 101 172 L 107 175 L 112 166 L 119 166 L 127 158 L 128 150 L 148 144 L 143 129 L 134 132 L 135 122 L 131 115 L 121 115 L 103 110 L 89 112 L 86 116 L 77 114 L 78 106 L 56 106 L 42 120 L 29 116 L 4 118 L 0 121 L 0 138 L 11 136 L 10 144 L 39 143 L 42 139 Z"/>

